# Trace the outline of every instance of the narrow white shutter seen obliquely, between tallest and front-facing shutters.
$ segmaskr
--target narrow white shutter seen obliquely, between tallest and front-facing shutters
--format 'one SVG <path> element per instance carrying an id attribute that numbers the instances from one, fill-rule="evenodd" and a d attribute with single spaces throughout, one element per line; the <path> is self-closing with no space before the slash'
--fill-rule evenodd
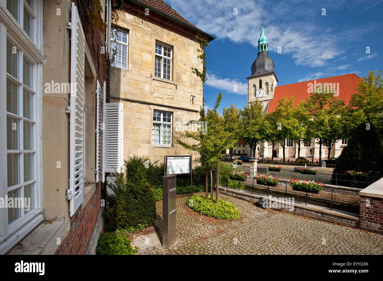
<path id="1" fill-rule="evenodd" d="M 96 84 L 96 182 L 103 179 L 103 122 L 104 122 L 104 97 L 105 89 L 101 89 L 100 82 Z M 103 180 L 104 181 L 104 180 Z"/>

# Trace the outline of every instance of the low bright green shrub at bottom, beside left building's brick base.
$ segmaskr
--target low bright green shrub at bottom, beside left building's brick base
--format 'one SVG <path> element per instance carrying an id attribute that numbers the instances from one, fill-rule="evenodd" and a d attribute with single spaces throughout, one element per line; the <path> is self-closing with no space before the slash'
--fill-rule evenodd
<path id="1" fill-rule="evenodd" d="M 134 255 L 138 252 L 138 247 L 134 249 L 130 245 L 132 240 L 129 235 L 117 230 L 115 234 L 100 233 L 98 238 L 96 255 Z"/>

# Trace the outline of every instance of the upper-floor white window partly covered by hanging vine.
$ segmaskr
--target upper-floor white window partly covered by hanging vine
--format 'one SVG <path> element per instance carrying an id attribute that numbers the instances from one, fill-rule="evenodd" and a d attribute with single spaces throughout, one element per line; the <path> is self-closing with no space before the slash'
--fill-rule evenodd
<path id="1" fill-rule="evenodd" d="M 111 58 L 113 61 L 111 65 L 122 69 L 128 69 L 128 46 L 129 46 L 129 32 L 122 29 L 111 28 Z"/>

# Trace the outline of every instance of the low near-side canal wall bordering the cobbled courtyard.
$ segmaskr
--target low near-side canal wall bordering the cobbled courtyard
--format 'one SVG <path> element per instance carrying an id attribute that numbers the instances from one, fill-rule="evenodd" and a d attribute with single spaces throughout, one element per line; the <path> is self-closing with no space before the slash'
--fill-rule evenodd
<path id="1" fill-rule="evenodd" d="M 219 193 L 229 195 L 235 198 L 239 198 L 242 200 L 250 201 L 255 204 L 259 203 L 260 197 L 266 197 L 265 195 L 257 195 L 252 194 L 249 192 L 246 192 L 244 190 L 236 190 L 232 188 L 226 188 L 226 187 L 219 187 Z M 282 200 L 276 200 L 277 202 L 281 203 Z M 339 211 L 339 210 L 330 210 L 329 208 L 321 207 L 321 206 L 315 206 L 315 205 L 305 205 L 301 202 L 295 202 L 293 210 L 290 210 L 288 208 L 275 208 L 272 207 L 272 209 L 279 210 L 279 211 L 286 211 L 292 214 L 298 214 L 301 216 L 306 216 L 309 218 L 314 219 L 320 219 L 322 221 L 327 221 L 329 223 L 337 223 L 342 224 L 344 226 L 354 227 L 358 228 L 358 221 L 359 218 L 355 215 L 352 215 L 351 213 Z"/>

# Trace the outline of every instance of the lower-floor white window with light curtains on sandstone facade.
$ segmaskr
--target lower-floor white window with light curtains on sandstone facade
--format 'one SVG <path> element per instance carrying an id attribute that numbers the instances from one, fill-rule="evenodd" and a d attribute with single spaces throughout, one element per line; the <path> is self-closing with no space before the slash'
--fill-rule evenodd
<path id="1" fill-rule="evenodd" d="M 160 110 L 153 110 L 152 145 L 172 146 L 173 114 Z"/>

